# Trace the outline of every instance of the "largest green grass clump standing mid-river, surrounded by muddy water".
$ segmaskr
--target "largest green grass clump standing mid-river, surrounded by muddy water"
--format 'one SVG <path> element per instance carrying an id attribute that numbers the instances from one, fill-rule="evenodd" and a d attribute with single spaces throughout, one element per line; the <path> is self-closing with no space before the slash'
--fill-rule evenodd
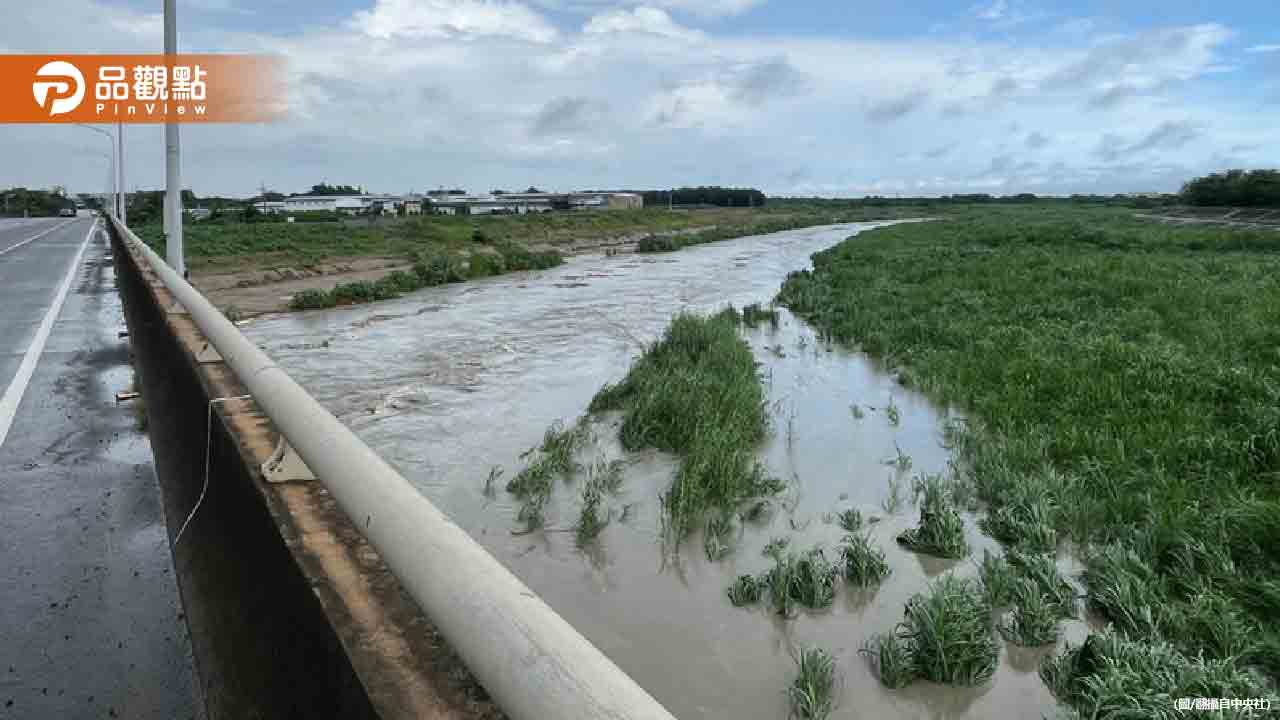
<path id="1" fill-rule="evenodd" d="M 782 489 L 755 459 L 764 438 L 764 391 L 732 310 L 680 314 L 618 384 L 605 386 L 590 410 L 621 410 L 627 450 L 657 447 L 680 456 L 662 503 L 677 539 L 710 510 L 728 512 Z"/>

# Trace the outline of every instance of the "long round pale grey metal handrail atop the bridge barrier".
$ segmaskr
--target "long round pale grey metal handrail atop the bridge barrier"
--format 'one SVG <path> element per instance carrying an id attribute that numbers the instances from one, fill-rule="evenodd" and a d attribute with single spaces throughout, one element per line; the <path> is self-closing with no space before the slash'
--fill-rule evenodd
<path id="1" fill-rule="evenodd" d="M 248 341 L 118 218 L 259 407 L 515 720 L 673 720 L 635 680 Z"/>

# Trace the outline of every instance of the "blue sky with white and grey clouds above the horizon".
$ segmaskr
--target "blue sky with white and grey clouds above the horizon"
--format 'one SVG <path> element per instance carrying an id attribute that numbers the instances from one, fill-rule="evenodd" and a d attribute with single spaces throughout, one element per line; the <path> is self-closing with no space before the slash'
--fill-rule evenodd
<path id="1" fill-rule="evenodd" d="M 0 53 L 148 53 L 160 0 L 6 8 Z M 178 0 L 183 51 L 270 53 L 288 118 L 183 126 L 183 186 L 1176 191 L 1280 165 L 1275 0 Z M 128 186 L 164 182 L 160 126 Z M 106 138 L 0 126 L 0 186 L 97 192 Z"/>

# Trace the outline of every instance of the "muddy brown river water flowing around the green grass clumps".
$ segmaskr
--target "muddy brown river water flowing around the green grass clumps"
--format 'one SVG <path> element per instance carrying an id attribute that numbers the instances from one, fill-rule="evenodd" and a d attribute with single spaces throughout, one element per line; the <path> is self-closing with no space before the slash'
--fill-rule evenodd
<path id="1" fill-rule="evenodd" d="M 744 331 L 768 388 L 771 437 L 759 448 L 788 489 L 759 523 L 744 523 L 735 551 L 709 562 L 700 538 L 663 543 L 658 496 L 675 459 L 622 452 L 616 418 L 594 425 L 581 460 L 622 459 L 625 480 L 605 505 L 613 520 L 579 547 L 572 532 L 581 482 L 558 482 L 547 529 L 522 534 L 518 502 L 502 486 L 520 454 L 557 420 L 573 423 L 591 396 L 617 382 L 672 314 L 768 302 L 791 270 L 850 234 L 882 223 L 808 228 L 690 247 L 667 255 L 585 255 L 544 272 L 430 288 L 376 305 L 261 319 L 246 328 L 436 506 L 684 719 L 777 719 L 801 646 L 838 664 L 833 717 L 1041 717 L 1055 701 L 1037 675 L 1053 651 L 1001 641 L 996 676 L 978 688 L 918 682 L 884 689 L 859 655 L 902 619 L 911 594 L 943 573 L 975 575 L 996 548 L 973 516 L 973 553 L 942 561 L 893 538 L 913 527 L 910 479 L 947 470 L 947 410 L 904 388 L 867 356 L 831 346 L 781 311 L 778 328 Z M 886 407 L 892 402 L 900 420 Z M 851 405 L 861 409 L 855 416 Z M 899 452 L 909 470 L 892 464 Z M 503 475 L 485 493 L 494 468 Z M 895 491 L 895 486 L 897 491 Z M 893 509 L 892 496 L 900 498 Z M 832 515 L 858 507 L 892 575 L 876 591 L 841 587 L 833 607 L 781 620 L 767 607 L 735 609 L 724 589 L 771 562 L 776 537 L 792 548 L 835 548 Z M 895 511 L 888 511 L 895 510 Z M 833 553 L 828 551 L 828 557 Z M 1076 570 L 1069 559 L 1065 571 Z M 1069 621 L 1080 642 L 1087 625 Z M 1061 643 L 1062 641 L 1060 641 Z"/>

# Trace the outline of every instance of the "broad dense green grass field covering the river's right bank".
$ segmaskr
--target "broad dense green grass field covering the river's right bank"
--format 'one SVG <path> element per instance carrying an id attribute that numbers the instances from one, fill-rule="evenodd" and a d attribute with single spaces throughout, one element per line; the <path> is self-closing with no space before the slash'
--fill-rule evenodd
<path id="1" fill-rule="evenodd" d="M 1080 547 L 1125 657 L 1176 674 L 1230 648 L 1213 673 L 1276 678 L 1280 233 L 993 208 L 863 233 L 778 301 L 964 410 L 948 442 L 983 528 L 1027 552 Z M 1065 671 L 1170 692 L 1114 670 Z M 1091 693 L 1060 697 L 1123 716 Z"/>

